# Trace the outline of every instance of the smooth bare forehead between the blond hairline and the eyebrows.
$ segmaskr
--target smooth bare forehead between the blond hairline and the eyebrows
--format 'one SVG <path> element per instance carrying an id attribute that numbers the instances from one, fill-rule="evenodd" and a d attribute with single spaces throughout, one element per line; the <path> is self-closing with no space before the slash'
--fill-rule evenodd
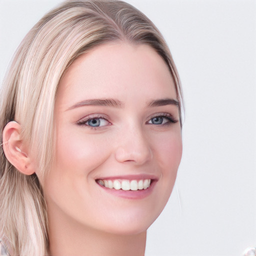
<path id="1" fill-rule="evenodd" d="M 141 95 L 147 99 L 176 98 L 167 64 L 148 45 L 111 43 L 96 47 L 72 63 L 59 82 L 57 100 L 111 96 L 125 101 Z"/>

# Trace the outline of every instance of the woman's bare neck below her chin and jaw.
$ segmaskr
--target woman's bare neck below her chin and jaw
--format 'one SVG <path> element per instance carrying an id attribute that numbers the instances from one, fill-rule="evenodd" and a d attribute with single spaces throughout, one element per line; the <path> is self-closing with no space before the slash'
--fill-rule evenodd
<path id="1" fill-rule="evenodd" d="M 112 234 L 78 223 L 49 218 L 49 255 L 51 256 L 143 256 L 146 231 L 138 234 Z"/>

